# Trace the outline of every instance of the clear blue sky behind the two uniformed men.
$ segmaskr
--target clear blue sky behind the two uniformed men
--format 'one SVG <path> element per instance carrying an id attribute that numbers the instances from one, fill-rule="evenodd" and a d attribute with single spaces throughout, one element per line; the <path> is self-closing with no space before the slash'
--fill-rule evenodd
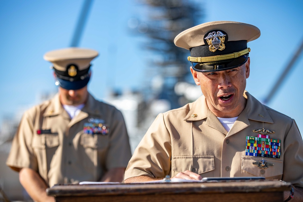
<path id="1" fill-rule="evenodd" d="M 205 1 L 201 23 L 216 20 L 257 26 L 261 37 L 249 42 L 251 75 L 246 90 L 263 100 L 303 40 L 302 1 Z M 128 30 L 130 18 L 147 18 L 138 1 L 95 0 L 80 47 L 99 51 L 93 61 L 89 91 L 103 99 L 108 89 L 142 89 L 149 81 L 148 58 L 141 37 Z M 0 1 L 0 119 L 37 104 L 37 94 L 55 92 L 45 52 L 66 48 L 82 8 L 82 0 Z M 217 6 L 218 9 L 214 9 Z M 301 81 L 303 54 L 268 106 L 294 118 L 303 130 Z M 190 64 L 188 64 L 189 66 Z"/>

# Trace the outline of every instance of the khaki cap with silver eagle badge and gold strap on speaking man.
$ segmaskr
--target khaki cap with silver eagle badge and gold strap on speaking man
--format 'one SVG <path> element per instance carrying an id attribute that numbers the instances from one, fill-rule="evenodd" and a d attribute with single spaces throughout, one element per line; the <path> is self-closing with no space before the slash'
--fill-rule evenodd
<path id="1" fill-rule="evenodd" d="M 239 67 L 247 61 L 247 42 L 261 35 L 250 24 L 233 21 L 207 22 L 182 31 L 175 45 L 190 51 L 188 60 L 196 71 L 222 71 Z"/>

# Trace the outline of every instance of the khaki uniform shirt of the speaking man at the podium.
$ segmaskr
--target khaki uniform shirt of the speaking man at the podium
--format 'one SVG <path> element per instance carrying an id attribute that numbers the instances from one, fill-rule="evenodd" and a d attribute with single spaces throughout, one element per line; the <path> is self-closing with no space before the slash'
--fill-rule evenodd
<path id="1" fill-rule="evenodd" d="M 204 96 L 159 114 L 136 148 L 124 179 L 174 177 L 190 170 L 201 177 L 260 176 L 303 187 L 303 141 L 295 120 L 261 104 L 248 92 L 244 96 L 246 107 L 229 132 L 208 109 Z M 281 140 L 280 158 L 264 158 L 274 164 L 267 169 L 252 164 L 262 157 L 245 155 L 246 136 L 257 137 L 253 130 L 263 128 L 275 131 L 269 138 Z"/>

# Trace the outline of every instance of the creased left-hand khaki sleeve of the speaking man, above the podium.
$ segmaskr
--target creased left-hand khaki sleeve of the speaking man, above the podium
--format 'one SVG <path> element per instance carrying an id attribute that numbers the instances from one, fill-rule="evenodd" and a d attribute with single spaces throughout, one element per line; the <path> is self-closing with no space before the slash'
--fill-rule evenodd
<path id="1" fill-rule="evenodd" d="M 171 138 L 164 115 L 151 124 L 128 163 L 124 179 L 137 176 L 163 178 L 171 172 Z"/>

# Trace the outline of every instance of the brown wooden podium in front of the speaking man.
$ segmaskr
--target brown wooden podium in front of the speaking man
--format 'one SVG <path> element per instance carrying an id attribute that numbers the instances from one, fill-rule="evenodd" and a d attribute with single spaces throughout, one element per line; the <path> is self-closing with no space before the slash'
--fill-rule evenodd
<path id="1" fill-rule="evenodd" d="M 283 201 L 283 191 L 291 184 L 279 180 L 131 183 L 131 184 L 68 184 L 46 190 L 56 201 Z"/>

